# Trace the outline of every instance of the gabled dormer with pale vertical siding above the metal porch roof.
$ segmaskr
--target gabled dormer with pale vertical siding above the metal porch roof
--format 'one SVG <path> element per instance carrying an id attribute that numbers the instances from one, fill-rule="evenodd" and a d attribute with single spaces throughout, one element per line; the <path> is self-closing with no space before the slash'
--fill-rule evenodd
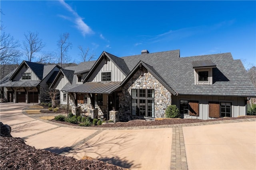
<path id="1" fill-rule="evenodd" d="M 123 59 L 104 51 L 83 82 L 122 82 L 129 72 Z"/>

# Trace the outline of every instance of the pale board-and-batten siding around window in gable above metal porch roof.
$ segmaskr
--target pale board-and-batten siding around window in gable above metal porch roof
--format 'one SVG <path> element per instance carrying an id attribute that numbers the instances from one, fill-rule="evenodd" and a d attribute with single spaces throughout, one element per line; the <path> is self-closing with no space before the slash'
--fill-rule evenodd
<path id="1" fill-rule="evenodd" d="M 92 76 L 88 79 L 89 82 L 101 82 L 101 73 L 111 72 L 112 82 L 121 82 L 126 78 L 122 71 L 112 61 L 108 60 L 107 64 L 102 60 L 98 67 L 92 73 Z"/>

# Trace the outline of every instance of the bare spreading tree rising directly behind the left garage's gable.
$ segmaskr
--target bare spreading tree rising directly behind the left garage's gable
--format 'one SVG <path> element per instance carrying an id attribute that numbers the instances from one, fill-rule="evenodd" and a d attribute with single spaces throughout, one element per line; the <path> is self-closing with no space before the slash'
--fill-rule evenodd
<path id="1" fill-rule="evenodd" d="M 25 40 L 23 41 L 24 51 L 28 61 L 32 61 L 35 58 L 35 53 L 38 53 L 46 45 L 42 42 L 42 39 L 39 39 L 39 33 L 33 33 L 28 31 L 24 34 Z"/>

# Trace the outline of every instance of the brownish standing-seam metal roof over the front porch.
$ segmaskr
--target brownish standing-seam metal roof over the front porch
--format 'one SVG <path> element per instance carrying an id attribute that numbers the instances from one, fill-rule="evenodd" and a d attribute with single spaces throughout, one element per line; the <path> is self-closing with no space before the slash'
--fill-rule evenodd
<path id="1" fill-rule="evenodd" d="M 110 94 L 119 88 L 120 84 L 121 82 L 85 82 L 66 92 Z"/>

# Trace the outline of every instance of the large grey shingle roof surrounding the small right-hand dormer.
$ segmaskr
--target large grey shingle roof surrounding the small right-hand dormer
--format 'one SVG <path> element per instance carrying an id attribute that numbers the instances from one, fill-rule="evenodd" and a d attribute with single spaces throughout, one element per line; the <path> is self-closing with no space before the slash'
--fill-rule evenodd
<path id="1" fill-rule="evenodd" d="M 179 57 L 179 50 L 148 53 L 121 57 L 130 70 L 141 60 L 152 66 L 156 72 L 178 94 L 210 96 L 256 96 L 240 60 L 234 60 L 231 53 Z M 195 85 L 192 61 L 209 60 L 213 68 L 212 85 Z"/>

